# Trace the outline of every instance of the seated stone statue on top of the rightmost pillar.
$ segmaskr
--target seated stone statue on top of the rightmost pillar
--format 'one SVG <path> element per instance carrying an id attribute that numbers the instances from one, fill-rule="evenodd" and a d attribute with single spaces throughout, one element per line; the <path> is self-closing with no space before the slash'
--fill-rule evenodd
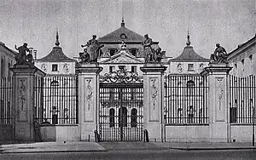
<path id="1" fill-rule="evenodd" d="M 219 43 L 217 43 L 216 49 L 214 50 L 213 54 L 211 54 L 210 56 L 210 60 L 211 60 L 210 63 L 228 64 L 227 58 L 228 58 L 228 54 L 226 50 L 223 47 L 221 47 Z"/>

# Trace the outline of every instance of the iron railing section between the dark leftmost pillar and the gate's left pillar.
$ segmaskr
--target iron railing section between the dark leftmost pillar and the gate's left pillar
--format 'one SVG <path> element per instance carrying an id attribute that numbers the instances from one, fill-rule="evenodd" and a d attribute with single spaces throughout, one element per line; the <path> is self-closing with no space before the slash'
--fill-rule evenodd
<path id="1" fill-rule="evenodd" d="M 41 123 L 79 123 L 76 76 L 36 78 L 35 84 L 36 115 Z"/>

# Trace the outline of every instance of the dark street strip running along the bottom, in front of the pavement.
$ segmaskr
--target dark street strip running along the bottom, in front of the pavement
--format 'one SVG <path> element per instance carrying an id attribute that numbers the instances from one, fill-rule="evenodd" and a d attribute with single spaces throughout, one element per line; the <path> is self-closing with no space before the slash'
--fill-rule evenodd
<path id="1" fill-rule="evenodd" d="M 242 150 L 242 151 L 179 151 L 179 150 L 131 150 L 131 151 L 101 151 L 101 152 L 61 152 L 61 153 L 22 153 L 22 154 L 2 154 L 1 160 L 84 160 L 84 159 L 189 159 L 189 160 L 211 160 L 211 159 L 225 159 L 225 160 L 255 160 L 255 150 Z"/>

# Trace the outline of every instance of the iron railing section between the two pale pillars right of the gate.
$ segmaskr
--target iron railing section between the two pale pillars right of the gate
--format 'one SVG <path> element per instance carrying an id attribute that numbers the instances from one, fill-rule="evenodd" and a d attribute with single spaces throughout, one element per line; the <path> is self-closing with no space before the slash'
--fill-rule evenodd
<path id="1" fill-rule="evenodd" d="M 165 112 L 168 124 L 207 124 L 207 77 L 200 75 L 166 75 Z"/>

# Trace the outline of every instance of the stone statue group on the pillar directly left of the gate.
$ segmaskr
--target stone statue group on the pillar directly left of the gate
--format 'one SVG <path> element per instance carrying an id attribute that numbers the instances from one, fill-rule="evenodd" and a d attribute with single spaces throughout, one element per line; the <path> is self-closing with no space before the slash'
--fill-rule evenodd
<path id="1" fill-rule="evenodd" d="M 85 45 L 81 45 L 81 47 L 87 47 L 87 52 L 90 55 L 90 63 L 96 63 L 97 59 L 102 55 L 102 47 L 104 45 L 100 45 L 100 43 L 96 40 L 96 35 L 92 36 Z"/>

